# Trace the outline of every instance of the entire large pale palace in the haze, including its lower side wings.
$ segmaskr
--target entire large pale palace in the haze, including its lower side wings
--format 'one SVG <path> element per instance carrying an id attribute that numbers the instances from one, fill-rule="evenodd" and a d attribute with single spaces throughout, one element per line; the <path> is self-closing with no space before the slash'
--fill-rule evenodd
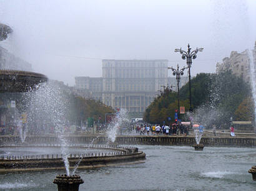
<path id="1" fill-rule="evenodd" d="M 164 87 L 177 90 L 177 81 L 168 72 L 172 73 L 168 60 L 102 60 L 102 77 L 76 77 L 75 93 L 142 116 Z M 186 80 L 181 78 L 180 87 Z"/>

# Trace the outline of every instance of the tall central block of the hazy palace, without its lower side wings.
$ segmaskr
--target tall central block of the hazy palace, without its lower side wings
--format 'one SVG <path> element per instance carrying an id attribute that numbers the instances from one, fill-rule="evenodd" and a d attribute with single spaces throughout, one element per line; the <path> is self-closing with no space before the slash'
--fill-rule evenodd
<path id="1" fill-rule="evenodd" d="M 102 60 L 102 102 L 142 115 L 167 86 L 168 60 Z"/>

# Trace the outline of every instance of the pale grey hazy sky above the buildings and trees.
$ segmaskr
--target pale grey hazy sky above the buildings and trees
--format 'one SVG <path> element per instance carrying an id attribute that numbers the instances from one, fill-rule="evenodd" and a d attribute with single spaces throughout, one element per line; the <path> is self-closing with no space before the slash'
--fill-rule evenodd
<path id="1" fill-rule="evenodd" d="M 0 0 L 0 22 L 14 30 L 0 45 L 35 72 L 74 85 L 102 76 L 102 59 L 168 59 L 175 48 L 204 47 L 192 75 L 215 72 L 232 50 L 254 49 L 256 1 Z M 170 73 L 170 72 L 169 72 Z"/>

